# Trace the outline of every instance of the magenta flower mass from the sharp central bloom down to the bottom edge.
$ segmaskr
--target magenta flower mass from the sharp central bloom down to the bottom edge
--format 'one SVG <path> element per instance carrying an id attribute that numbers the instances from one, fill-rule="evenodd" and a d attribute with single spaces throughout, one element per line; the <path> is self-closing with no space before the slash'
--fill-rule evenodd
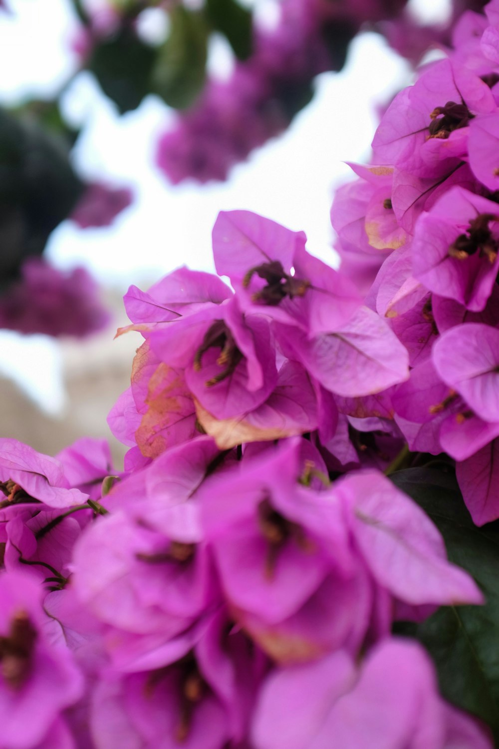
<path id="1" fill-rule="evenodd" d="M 379 470 L 400 432 L 361 418 L 408 353 L 305 240 L 221 213 L 232 288 L 180 268 L 129 289 L 124 473 L 95 440 L 0 440 L 2 749 L 492 746 L 392 635 L 483 604 Z"/>

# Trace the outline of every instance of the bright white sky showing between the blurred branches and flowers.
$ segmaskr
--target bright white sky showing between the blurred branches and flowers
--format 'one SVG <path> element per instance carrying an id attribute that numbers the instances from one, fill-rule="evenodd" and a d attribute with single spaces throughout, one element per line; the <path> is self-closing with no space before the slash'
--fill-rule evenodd
<path id="1" fill-rule="evenodd" d="M 67 49 L 75 28 L 67 0 L 8 0 L 0 13 L 0 101 L 47 97 L 75 70 Z M 414 0 L 417 12 L 438 19 L 447 0 Z M 212 46 L 210 65 L 223 66 L 223 43 Z M 224 184 L 171 187 L 153 163 L 156 135 L 172 112 L 149 97 L 119 117 L 87 73 L 64 97 L 68 115 L 84 130 L 75 162 L 88 178 L 108 178 L 135 189 L 135 202 L 114 225 L 80 231 L 64 222 L 49 241 L 59 267 L 85 264 L 105 285 L 147 287 L 186 263 L 212 270 L 210 235 L 218 210 L 245 208 L 307 233 L 310 252 L 334 262 L 329 208 L 334 186 L 349 178 L 345 161 L 366 161 L 376 127 L 376 103 L 408 82 L 408 66 L 376 34 L 352 43 L 341 73 L 319 76 L 313 103 L 292 127 L 233 170 Z M 47 410 L 64 402 L 59 345 L 45 336 L 0 332 L 0 372 L 13 377 Z"/>

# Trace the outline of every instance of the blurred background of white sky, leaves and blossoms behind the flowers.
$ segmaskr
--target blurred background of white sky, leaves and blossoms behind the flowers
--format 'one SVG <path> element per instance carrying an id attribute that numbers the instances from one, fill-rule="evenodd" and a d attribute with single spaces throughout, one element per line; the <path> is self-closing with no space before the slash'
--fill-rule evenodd
<path id="1" fill-rule="evenodd" d="M 218 210 L 302 229 L 337 262 L 334 188 L 347 162 L 369 160 L 379 112 L 453 8 L 320 0 L 325 15 L 307 1 L 0 0 L 1 436 L 52 455 L 111 437 L 105 416 L 141 342 L 113 340 L 121 297 L 182 264 L 213 270 Z M 421 38 L 404 47 L 408 19 Z"/>

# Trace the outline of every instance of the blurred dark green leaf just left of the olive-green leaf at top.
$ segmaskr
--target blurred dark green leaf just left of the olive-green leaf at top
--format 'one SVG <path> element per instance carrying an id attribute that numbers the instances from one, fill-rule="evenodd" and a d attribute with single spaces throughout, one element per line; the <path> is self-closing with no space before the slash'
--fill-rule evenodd
<path id="1" fill-rule="evenodd" d="M 94 48 L 88 69 L 121 114 L 136 109 L 150 91 L 156 50 L 142 42 L 133 28 L 124 26 L 114 37 Z"/>

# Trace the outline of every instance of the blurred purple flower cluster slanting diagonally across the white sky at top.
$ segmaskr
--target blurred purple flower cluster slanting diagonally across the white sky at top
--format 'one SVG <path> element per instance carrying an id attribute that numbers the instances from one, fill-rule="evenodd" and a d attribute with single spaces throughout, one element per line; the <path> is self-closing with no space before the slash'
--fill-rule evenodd
<path id="1" fill-rule="evenodd" d="M 365 21 L 394 16 L 405 0 L 284 0 L 277 28 L 254 28 L 254 52 L 227 82 L 211 79 L 177 127 L 159 140 L 156 161 L 173 184 L 224 180 L 254 148 L 282 133 L 312 97 L 313 79 L 340 70 Z"/>

